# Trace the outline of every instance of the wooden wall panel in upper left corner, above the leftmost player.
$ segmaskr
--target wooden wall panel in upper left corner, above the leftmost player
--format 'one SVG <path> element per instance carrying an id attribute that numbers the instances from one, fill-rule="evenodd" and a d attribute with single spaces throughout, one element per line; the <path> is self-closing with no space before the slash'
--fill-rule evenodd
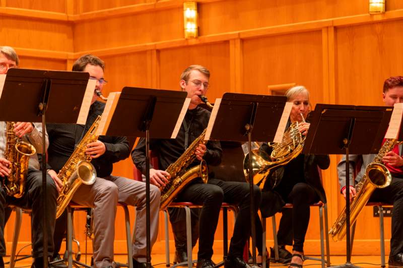
<path id="1" fill-rule="evenodd" d="M 73 52 L 73 29 L 66 22 L 0 16 L 2 45 Z"/>

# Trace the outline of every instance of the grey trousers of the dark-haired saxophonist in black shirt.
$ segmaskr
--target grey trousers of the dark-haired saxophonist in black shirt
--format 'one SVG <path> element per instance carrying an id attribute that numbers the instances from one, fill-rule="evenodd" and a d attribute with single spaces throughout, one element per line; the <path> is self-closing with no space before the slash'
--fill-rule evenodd
<path id="1" fill-rule="evenodd" d="M 150 185 L 151 246 L 158 235 L 160 190 Z M 92 185 L 82 185 L 73 196 L 77 204 L 94 208 L 94 266 L 112 265 L 115 216 L 118 202 L 136 207 L 133 258 L 146 262 L 146 184 L 123 177 L 98 178 Z"/>

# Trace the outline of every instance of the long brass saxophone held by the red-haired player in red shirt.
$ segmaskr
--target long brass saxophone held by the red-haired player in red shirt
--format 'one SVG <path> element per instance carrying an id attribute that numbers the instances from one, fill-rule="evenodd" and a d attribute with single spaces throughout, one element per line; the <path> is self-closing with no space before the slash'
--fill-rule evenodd
<path id="1" fill-rule="evenodd" d="M 389 186 L 392 181 L 392 175 L 385 165 L 382 164 L 382 158 L 398 144 L 400 142 L 395 139 L 386 139 L 375 159 L 365 168 L 365 174 L 356 185 L 357 195 L 350 203 L 350 225 L 356 222 L 358 215 L 367 204 L 372 192 L 376 188 Z M 329 234 L 334 241 L 343 239 L 347 232 L 346 226 L 346 207 L 344 207 L 329 230 Z"/>

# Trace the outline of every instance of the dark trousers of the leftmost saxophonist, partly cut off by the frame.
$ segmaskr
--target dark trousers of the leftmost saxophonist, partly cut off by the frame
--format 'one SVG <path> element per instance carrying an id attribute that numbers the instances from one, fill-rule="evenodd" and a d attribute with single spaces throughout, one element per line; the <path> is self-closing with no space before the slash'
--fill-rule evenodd
<path id="1" fill-rule="evenodd" d="M 53 231 L 54 221 L 56 217 L 56 198 L 57 189 L 52 178 L 46 176 L 46 223 L 48 237 L 48 255 L 53 254 Z M 4 240 L 4 226 L 7 214 L 7 207 L 15 205 L 24 209 L 32 209 L 31 214 L 31 240 L 33 257 L 38 258 L 43 256 L 43 207 L 41 202 L 42 196 L 42 172 L 35 169 L 28 170 L 26 178 L 25 193 L 16 199 L 6 195 L 3 187 L 0 186 L 0 256 L 6 255 L 6 243 Z M 8 218 L 8 217 L 7 217 Z"/>

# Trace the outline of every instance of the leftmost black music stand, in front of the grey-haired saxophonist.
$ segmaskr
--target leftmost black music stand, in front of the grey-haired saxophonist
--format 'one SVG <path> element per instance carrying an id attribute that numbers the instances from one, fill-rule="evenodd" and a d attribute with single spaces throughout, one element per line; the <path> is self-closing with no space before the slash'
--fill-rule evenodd
<path id="1" fill-rule="evenodd" d="M 10 69 L 0 98 L 0 120 L 20 122 L 76 123 L 82 109 L 89 74 L 82 72 Z M 88 109 L 90 103 L 87 103 Z M 83 105 L 84 107 L 84 105 Z M 46 114 L 46 115 L 45 115 Z M 86 117 L 86 116 L 85 116 Z M 46 149 L 42 135 L 43 210 L 46 202 Z M 43 258 L 47 267 L 47 224 L 43 214 Z M 53 239 L 53 237 L 51 238 Z"/>

